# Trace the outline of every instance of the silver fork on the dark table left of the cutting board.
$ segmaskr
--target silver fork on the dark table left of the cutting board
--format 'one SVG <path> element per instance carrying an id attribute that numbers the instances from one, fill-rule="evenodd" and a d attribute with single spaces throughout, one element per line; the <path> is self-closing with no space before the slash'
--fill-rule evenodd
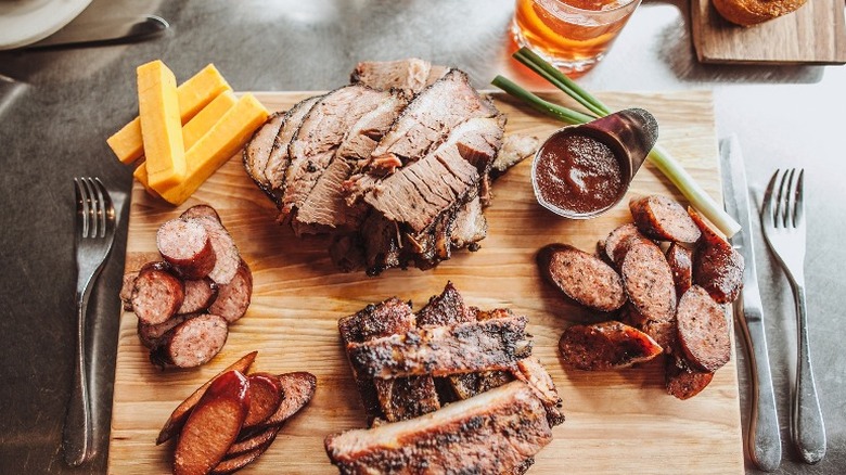
<path id="1" fill-rule="evenodd" d="M 86 312 L 91 285 L 103 268 L 115 240 L 115 208 L 99 178 L 74 178 L 76 192 L 77 334 L 74 386 L 65 416 L 62 449 L 65 462 L 78 466 L 90 459 L 93 447 L 91 403 L 86 364 Z"/>

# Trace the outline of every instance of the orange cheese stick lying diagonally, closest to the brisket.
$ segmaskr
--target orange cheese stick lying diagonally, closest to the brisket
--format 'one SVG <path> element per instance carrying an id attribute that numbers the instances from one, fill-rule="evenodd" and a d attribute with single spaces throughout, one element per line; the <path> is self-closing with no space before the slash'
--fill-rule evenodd
<path id="1" fill-rule="evenodd" d="M 188 176 L 169 189 L 156 190 L 168 203 L 180 205 L 232 157 L 264 124 L 270 113 L 253 94 L 244 94 L 185 153 Z"/>

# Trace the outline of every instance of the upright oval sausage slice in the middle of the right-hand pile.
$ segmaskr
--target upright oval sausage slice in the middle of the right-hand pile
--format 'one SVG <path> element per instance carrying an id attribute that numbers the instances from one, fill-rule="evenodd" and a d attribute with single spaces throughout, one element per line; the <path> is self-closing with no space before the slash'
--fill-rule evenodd
<path id="1" fill-rule="evenodd" d="M 649 320 L 671 321 L 676 314 L 676 286 L 667 259 L 649 240 L 631 245 L 620 266 L 623 284 L 634 308 Z"/>

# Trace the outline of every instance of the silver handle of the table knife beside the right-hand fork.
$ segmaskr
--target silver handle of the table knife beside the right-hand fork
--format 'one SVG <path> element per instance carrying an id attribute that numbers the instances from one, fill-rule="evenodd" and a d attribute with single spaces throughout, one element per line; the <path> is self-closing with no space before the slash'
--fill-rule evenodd
<path id="1" fill-rule="evenodd" d="M 781 434 L 779 415 L 776 410 L 776 395 L 772 390 L 770 359 L 767 354 L 767 335 L 764 331 L 764 318 L 759 308 L 743 308 L 741 300 L 735 309 L 743 309 L 738 316 L 746 348 L 749 355 L 752 373 L 752 414 L 749 416 L 748 450 L 749 459 L 765 472 L 773 472 L 781 465 Z"/>

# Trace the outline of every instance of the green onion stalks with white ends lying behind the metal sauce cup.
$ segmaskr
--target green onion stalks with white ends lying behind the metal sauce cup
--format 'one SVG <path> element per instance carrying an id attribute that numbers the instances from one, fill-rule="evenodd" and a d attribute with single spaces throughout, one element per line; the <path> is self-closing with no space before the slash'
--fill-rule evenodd
<path id="1" fill-rule="evenodd" d="M 528 48 L 521 48 L 514 53 L 514 59 L 525 64 L 531 70 L 547 79 L 556 88 L 566 92 L 567 95 L 576 100 L 585 108 L 599 117 L 604 117 L 611 113 L 611 110 L 590 92 L 580 88 L 573 79 L 568 78 L 555 66 L 549 64 L 538 54 Z M 568 124 L 584 124 L 593 120 L 593 116 L 582 114 L 578 111 L 553 104 L 549 101 L 538 98 L 531 92 L 523 89 L 513 81 L 497 76 L 491 82 L 493 86 L 502 89 L 509 94 L 525 101 L 533 108 L 555 117 Z M 740 231 L 740 224 L 729 216 L 721 206 L 719 206 L 700 184 L 688 174 L 687 170 L 672 157 L 672 155 L 659 144 L 655 144 L 649 154 L 650 162 L 661 170 L 676 188 L 690 201 L 694 208 L 698 209 L 710 222 L 714 223 L 723 234 L 731 238 Z"/>

